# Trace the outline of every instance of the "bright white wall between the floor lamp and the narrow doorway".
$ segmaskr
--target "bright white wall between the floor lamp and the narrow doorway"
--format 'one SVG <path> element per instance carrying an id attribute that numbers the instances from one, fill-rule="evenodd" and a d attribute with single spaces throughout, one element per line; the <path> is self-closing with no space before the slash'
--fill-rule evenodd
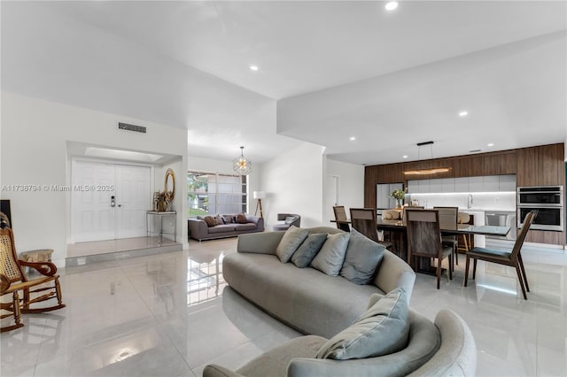
<path id="1" fill-rule="evenodd" d="M 323 147 L 305 142 L 265 162 L 260 169 L 267 230 L 277 223 L 277 213 L 298 213 L 301 227 L 318 227 L 322 221 Z M 328 225 L 328 224 L 325 224 Z"/>

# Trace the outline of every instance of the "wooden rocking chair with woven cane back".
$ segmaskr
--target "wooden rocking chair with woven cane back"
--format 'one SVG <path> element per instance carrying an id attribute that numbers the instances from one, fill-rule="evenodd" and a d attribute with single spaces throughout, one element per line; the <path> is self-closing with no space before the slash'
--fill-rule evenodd
<path id="1" fill-rule="evenodd" d="M 24 273 L 24 266 L 34 268 L 43 276 L 33 280 L 28 279 L 26 273 Z M 59 275 L 56 273 L 57 267 L 51 262 L 18 260 L 12 229 L 0 229 L 0 296 L 12 294 L 12 301 L 3 302 L 0 306 L 2 311 L 12 313 L 2 314 L 0 319 L 13 315 L 15 322 L 12 326 L 0 328 L 0 332 L 4 333 L 4 331 L 24 326 L 20 321 L 20 313 L 50 312 L 65 307 L 61 300 Z M 51 281 L 54 282 L 53 285 L 48 285 L 47 283 Z M 19 291 L 23 291 L 23 298 L 19 297 Z M 36 296 L 37 293 L 44 291 L 47 291 L 47 293 Z M 35 297 L 32 297 L 32 295 Z M 31 304 L 40 303 L 51 298 L 57 298 L 58 304 L 33 309 L 29 307 Z"/>

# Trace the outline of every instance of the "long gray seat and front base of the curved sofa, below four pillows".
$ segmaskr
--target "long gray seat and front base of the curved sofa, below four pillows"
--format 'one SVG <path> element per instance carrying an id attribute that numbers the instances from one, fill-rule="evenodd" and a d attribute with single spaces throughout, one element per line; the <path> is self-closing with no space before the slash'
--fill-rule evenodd
<path id="1" fill-rule="evenodd" d="M 369 296 L 384 296 L 375 285 L 355 285 L 315 268 L 298 268 L 272 254 L 228 254 L 222 259 L 222 275 L 232 289 L 266 312 L 304 334 L 327 339 L 367 310 Z"/>

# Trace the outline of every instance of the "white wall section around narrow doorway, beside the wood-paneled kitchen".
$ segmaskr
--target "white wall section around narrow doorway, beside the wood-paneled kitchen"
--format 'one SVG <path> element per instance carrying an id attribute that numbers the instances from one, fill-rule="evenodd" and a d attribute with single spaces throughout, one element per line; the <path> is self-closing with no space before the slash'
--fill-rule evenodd
<path id="1" fill-rule="evenodd" d="M 326 173 L 338 177 L 338 205 L 344 205 L 348 213 L 350 208 L 364 207 L 364 166 L 326 159 Z M 323 187 L 323 199 L 327 186 Z M 323 203 L 323 221 L 329 225 L 335 219 L 332 206 Z M 348 214 L 347 214 L 348 216 Z"/>

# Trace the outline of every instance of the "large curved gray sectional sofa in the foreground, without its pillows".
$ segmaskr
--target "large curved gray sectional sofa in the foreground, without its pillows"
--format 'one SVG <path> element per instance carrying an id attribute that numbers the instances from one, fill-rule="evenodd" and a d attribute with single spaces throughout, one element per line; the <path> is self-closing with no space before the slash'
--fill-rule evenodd
<path id="1" fill-rule="evenodd" d="M 309 229 L 310 235 L 339 232 L 332 227 Z M 454 312 L 441 311 L 433 323 L 408 308 L 416 275 L 403 260 L 384 250 L 374 279 L 358 285 L 340 275 L 282 263 L 276 249 L 283 235 L 240 235 L 237 253 L 223 259 L 223 275 L 230 289 L 307 336 L 260 355 L 236 372 L 207 365 L 204 376 L 474 375 L 476 346 L 462 319 Z M 317 355 L 333 336 L 348 334 L 372 305 L 387 301 L 381 297 L 387 299 L 400 291 L 408 324 L 403 349 L 345 360 Z"/>

